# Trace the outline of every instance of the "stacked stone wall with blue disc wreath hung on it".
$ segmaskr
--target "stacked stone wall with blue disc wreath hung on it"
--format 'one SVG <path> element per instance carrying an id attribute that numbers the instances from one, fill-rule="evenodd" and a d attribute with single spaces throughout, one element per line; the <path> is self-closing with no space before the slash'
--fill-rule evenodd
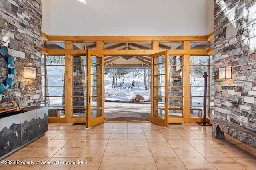
<path id="1" fill-rule="evenodd" d="M 18 106 L 40 106 L 41 98 L 41 0 L 0 0 L 0 45 L 15 59 L 14 85 L 0 95 L 1 107 L 10 100 Z M 24 79 L 24 66 L 37 68 L 36 79 Z M 0 83 L 8 75 L 5 58 L 0 58 Z"/>

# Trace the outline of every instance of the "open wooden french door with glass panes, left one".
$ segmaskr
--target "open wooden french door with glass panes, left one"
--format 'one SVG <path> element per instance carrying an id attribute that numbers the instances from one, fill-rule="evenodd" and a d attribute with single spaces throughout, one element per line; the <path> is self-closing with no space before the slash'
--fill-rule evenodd
<path id="1" fill-rule="evenodd" d="M 87 127 L 104 122 L 104 55 L 87 51 Z"/>

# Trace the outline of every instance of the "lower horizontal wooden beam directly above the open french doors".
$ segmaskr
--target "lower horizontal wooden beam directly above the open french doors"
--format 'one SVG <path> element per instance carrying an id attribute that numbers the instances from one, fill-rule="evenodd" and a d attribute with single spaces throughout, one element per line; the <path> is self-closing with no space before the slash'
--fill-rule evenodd
<path id="1" fill-rule="evenodd" d="M 152 55 L 166 50 L 91 50 L 104 55 Z M 169 55 L 208 55 L 208 50 L 168 50 Z M 57 50 L 48 49 L 48 55 L 86 55 L 86 50 Z"/>

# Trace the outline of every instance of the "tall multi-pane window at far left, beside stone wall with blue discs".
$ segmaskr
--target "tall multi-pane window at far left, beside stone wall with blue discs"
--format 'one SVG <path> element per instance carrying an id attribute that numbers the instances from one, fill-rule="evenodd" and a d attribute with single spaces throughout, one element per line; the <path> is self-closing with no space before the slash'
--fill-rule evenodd
<path id="1" fill-rule="evenodd" d="M 41 56 L 41 106 L 49 107 L 49 116 L 65 116 L 65 56 Z"/>

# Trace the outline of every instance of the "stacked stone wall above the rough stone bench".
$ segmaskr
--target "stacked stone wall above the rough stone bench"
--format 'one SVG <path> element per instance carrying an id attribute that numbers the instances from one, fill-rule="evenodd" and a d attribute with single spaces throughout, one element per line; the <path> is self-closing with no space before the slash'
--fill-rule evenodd
<path id="1" fill-rule="evenodd" d="M 214 0 L 214 116 L 256 131 L 256 0 Z M 231 79 L 218 68 L 231 66 Z"/>

